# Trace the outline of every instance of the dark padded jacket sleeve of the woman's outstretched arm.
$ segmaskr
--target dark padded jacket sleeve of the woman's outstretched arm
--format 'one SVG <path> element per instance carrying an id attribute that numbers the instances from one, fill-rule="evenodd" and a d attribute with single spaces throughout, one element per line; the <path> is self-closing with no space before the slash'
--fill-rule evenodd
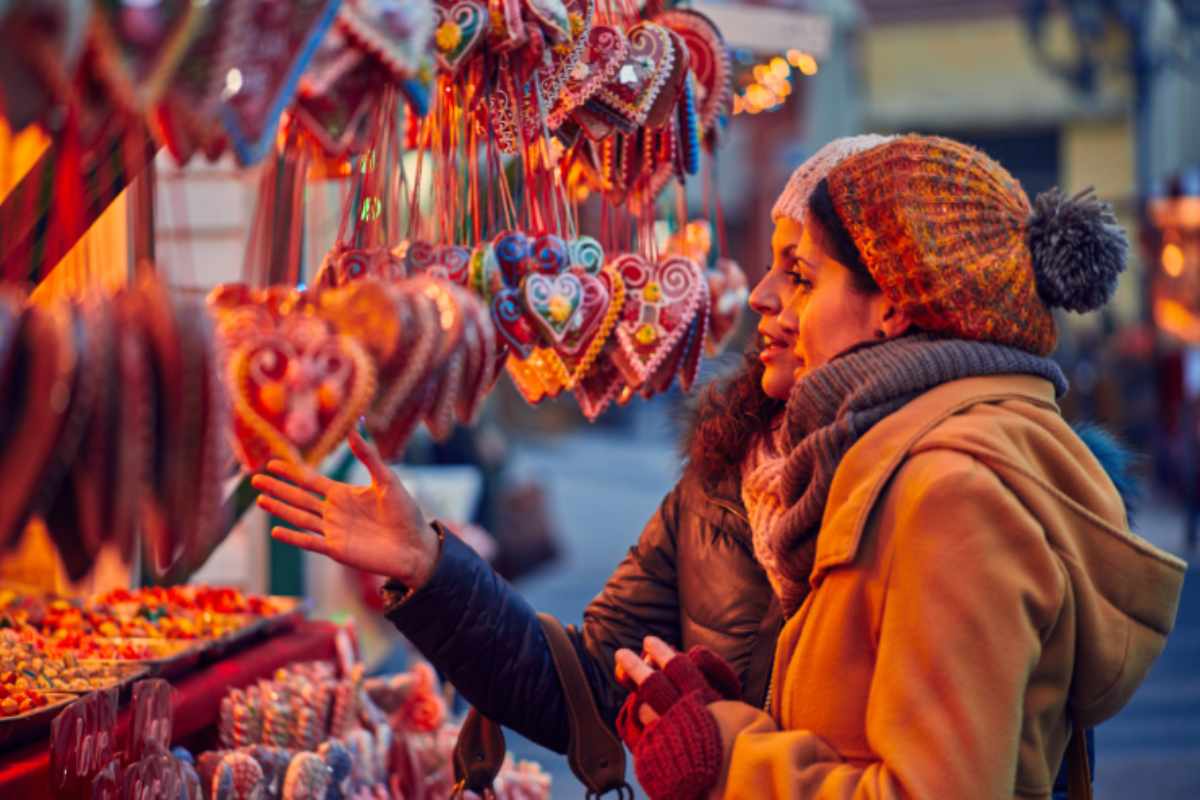
<path id="1" fill-rule="evenodd" d="M 623 646 L 640 651 L 649 633 L 667 642 L 679 638 L 677 519 L 678 487 L 588 606 L 582 632 L 569 628 L 610 722 L 624 699 L 613 679 L 613 652 Z M 566 703 L 536 613 L 457 536 L 445 536 L 430 581 L 385 614 L 481 714 L 545 747 L 566 751 Z"/>

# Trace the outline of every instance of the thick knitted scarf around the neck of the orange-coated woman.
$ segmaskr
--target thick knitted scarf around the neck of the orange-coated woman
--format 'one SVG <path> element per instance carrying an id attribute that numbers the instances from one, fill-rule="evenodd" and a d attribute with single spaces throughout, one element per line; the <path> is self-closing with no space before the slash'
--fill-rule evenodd
<path id="1" fill-rule="evenodd" d="M 755 555 L 784 613 L 809 591 L 817 531 L 842 456 L 876 422 L 917 396 L 962 378 L 1030 374 L 1062 397 L 1058 365 L 986 342 L 914 333 L 870 343 L 805 375 L 788 397 L 782 420 L 743 463 L 742 499 Z"/>

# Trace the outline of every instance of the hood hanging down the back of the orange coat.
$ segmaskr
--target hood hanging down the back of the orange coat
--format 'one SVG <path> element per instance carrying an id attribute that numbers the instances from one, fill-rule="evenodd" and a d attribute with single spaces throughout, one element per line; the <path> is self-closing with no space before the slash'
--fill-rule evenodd
<path id="1" fill-rule="evenodd" d="M 1042 523 L 1069 579 L 1064 610 L 1074 606 L 1070 709 L 1094 726 L 1128 703 L 1166 645 L 1187 565 L 1129 529 L 1121 492 L 1063 421 L 1049 384 L 1021 381 L 1032 397 L 950 416 L 914 452 L 946 447 L 973 456 Z M 1094 433 L 1085 435 L 1092 440 Z"/>

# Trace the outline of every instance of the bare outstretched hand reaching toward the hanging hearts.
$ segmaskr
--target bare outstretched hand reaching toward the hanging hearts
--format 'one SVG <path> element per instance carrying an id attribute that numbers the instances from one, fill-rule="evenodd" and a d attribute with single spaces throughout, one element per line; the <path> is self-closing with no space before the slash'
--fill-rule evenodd
<path id="1" fill-rule="evenodd" d="M 358 431 L 350 433 L 349 441 L 371 474 L 370 486 L 340 483 L 310 467 L 283 461 L 266 464 L 266 470 L 278 477 L 256 475 L 251 480 L 263 492 L 258 497 L 260 509 L 301 529 L 276 527 L 271 536 L 420 589 L 433 573 L 437 534 L 374 445 Z"/>

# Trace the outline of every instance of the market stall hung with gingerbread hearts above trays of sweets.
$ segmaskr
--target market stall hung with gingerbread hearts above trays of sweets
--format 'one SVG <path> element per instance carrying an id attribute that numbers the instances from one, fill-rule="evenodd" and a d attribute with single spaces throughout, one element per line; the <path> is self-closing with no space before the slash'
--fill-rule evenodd
<path id="1" fill-rule="evenodd" d="M 746 296 L 715 163 L 749 78 L 704 14 L 628 0 L 16 0 L 0 43 L 0 575 L 55 576 L 0 591 L 0 789 L 449 795 L 428 668 L 365 678 L 304 603 L 186 582 L 269 459 L 361 428 L 398 461 L 504 374 L 588 420 L 688 391 Z M 775 61 L 739 113 L 784 102 Z M 160 150 L 259 169 L 204 302 L 155 258 Z M 493 786 L 548 793 L 511 759 Z"/>

